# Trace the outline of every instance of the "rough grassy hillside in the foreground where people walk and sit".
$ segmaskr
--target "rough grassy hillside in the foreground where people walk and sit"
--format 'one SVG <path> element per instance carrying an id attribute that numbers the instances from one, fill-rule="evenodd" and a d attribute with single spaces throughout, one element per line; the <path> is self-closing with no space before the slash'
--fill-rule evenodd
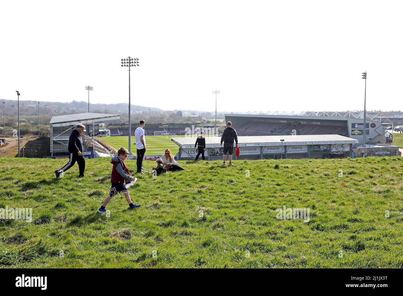
<path id="1" fill-rule="evenodd" d="M 33 209 L 0 219 L 0 267 L 403 267 L 402 157 L 179 161 L 189 172 L 139 176 L 142 207 L 119 195 L 106 217 L 109 161 L 55 179 L 65 159 L 0 158 L 0 207 Z M 284 205 L 310 221 L 276 219 Z"/>

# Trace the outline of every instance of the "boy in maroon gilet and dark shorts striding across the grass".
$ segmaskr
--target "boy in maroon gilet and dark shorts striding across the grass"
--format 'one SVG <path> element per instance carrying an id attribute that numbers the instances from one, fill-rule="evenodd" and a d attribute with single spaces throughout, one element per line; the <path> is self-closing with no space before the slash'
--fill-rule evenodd
<path id="1" fill-rule="evenodd" d="M 129 190 L 126 188 L 126 182 L 137 180 L 137 178 L 133 178 L 131 176 L 129 169 L 125 165 L 127 155 L 129 155 L 129 151 L 127 151 L 126 148 L 120 147 L 118 150 L 118 156 L 112 157 L 112 161 L 110 162 L 113 164 L 112 175 L 110 178 L 112 186 L 110 188 L 109 195 L 106 197 L 102 206 L 98 209 L 98 213 L 106 213 L 105 207 L 108 205 L 112 197 L 118 193 L 125 195 L 130 210 L 141 206 L 131 202 Z"/>

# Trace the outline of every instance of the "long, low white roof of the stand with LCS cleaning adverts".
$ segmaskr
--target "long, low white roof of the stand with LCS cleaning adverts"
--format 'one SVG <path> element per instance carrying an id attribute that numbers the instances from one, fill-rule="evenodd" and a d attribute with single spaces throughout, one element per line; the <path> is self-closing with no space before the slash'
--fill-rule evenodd
<path id="1" fill-rule="evenodd" d="M 281 145 L 313 145 L 313 144 L 348 144 L 359 143 L 358 140 L 340 135 L 287 135 L 287 136 L 240 136 L 238 146 L 278 146 Z M 181 148 L 195 147 L 195 137 L 171 138 Z M 206 148 L 220 147 L 221 137 L 206 137 Z M 234 144 L 235 145 L 235 144 Z"/>

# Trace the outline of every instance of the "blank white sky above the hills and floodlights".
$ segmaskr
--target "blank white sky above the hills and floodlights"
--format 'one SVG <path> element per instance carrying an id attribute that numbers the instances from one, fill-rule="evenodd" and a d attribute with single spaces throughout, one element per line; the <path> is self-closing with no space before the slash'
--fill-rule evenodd
<path id="1" fill-rule="evenodd" d="M 399 1 L 2 1 L 0 99 L 403 110 Z"/>

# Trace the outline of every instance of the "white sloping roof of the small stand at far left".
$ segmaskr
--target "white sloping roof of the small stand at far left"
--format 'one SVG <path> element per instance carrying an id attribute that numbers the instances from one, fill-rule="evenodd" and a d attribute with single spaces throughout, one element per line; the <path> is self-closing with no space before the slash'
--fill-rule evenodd
<path id="1" fill-rule="evenodd" d="M 53 126 L 70 126 L 79 123 L 94 123 L 106 120 L 119 119 L 119 115 L 102 113 L 79 113 L 60 116 L 52 116 L 50 124 Z"/>

